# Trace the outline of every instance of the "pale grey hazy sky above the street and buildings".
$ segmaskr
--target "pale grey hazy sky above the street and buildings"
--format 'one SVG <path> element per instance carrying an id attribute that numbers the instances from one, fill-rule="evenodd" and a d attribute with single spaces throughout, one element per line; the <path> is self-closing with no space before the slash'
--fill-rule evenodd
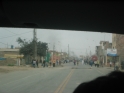
<path id="1" fill-rule="evenodd" d="M 17 38 L 30 40 L 33 38 L 33 29 L 24 28 L 0 28 L 0 48 L 6 48 L 7 44 L 10 48 L 19 46 L 16 42 Z M 86 32 L 86 31 L 69 31 L 69 30 L 49 30 L 37 29 L 37 38 L 41 42 L 48 42 L 49 48 L 58 51 L 74 51 L 76 55 L 85 55 L 87 53 L 95 53 L 95 46 L 100 45 L 99 42 L 109 41 L 112 42 L 111 33 L 101 32 Z"/>

